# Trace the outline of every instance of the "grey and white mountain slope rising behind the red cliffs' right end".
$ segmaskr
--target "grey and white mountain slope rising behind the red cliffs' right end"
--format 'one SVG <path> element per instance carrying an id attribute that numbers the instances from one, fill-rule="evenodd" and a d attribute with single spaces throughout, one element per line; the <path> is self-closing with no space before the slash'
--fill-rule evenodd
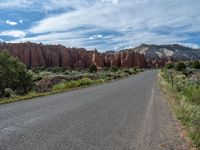
<path id="1" fill-rule="evenodd" d="M 148 66 L 160 67 L 167 62 L 179 60 L 200 60 L 200 49 L 192 49 L 178 44 L 173 45 L 146 45 L 142 44 L 125 51 L 143 54 Z"/>

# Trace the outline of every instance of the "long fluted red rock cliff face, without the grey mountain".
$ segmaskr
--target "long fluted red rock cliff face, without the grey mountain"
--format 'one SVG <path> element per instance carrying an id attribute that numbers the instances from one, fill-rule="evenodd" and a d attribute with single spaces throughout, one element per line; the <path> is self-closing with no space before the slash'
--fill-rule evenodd
<path id="1" fill-rule="evenodd" d="M 0 43 L 0 52 L 7 49 L 12 56 L 19 58 L 28 67 L 87 68 L 95 64 L 103 67 L 147 67 L 143 54 L 120 51 L 99 53 L 84 48 L 66 48 L 62 45 L 42 45 L 35 43 Z"/>

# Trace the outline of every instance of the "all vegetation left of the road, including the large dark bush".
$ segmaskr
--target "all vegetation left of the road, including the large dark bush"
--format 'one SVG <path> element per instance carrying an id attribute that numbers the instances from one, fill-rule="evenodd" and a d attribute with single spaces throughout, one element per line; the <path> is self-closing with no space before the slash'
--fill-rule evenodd
<path id="1" fill-rule="evenodd" d="M 39 66 L 28 70 L 4 51 L 0 53 L 0 104 L 105 83 L 141 71 L 115 66 L 98 70 L 94 64 L 88 69 Z"/>

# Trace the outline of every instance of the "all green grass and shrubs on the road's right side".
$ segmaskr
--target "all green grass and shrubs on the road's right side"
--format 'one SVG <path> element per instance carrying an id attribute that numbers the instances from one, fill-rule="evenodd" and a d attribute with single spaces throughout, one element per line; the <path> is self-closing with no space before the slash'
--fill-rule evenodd
<path id="1" fill-rule="evenodd" d="M 159 82 L 188 137 L 200 148 L 200 62 L 166 64 Z"/>

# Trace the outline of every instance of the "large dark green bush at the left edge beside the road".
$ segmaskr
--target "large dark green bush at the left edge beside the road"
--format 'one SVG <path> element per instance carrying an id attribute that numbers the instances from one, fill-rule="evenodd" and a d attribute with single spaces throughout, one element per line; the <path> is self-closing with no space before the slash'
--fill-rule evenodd
<path id="1" fill-rule="evenodd" d="M 0 97 L 5 96 L 8 88 L 16 94 L 25 94 L 32 86 L 32 75 L 26 66 L 6 50 L 0 53 Z"/>

